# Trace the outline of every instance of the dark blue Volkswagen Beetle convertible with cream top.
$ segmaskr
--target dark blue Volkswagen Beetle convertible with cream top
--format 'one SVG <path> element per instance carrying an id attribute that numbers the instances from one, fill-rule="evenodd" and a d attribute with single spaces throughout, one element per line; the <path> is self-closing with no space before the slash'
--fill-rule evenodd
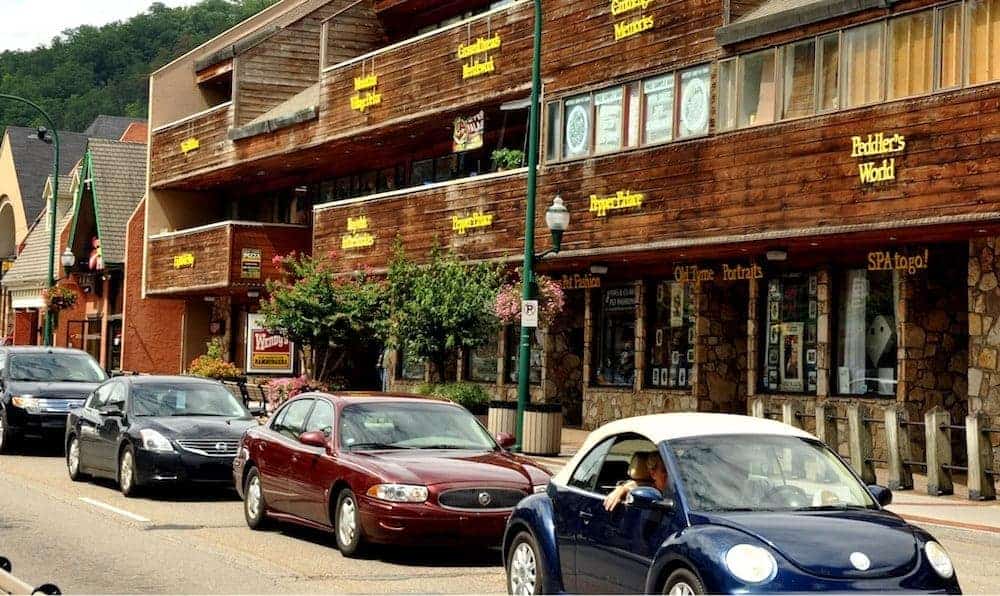
<path id="1" fill-rule="evenodd" d="M 626 496 L 606 506 L 612 492 Z M 725 414 L 618 420 L 591 433 L 547 491 L 513 511 L 503 543 L 507 587 L 960 594 L 945 549 L 883 509 L 891 498 L 865 487 L 815 437 L 779 422 Z"/>

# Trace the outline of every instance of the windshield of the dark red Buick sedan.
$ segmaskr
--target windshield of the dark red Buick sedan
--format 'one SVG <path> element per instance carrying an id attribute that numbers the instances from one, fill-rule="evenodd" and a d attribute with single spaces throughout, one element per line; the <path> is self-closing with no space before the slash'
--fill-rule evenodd
<path id="1" fill-rule="evenodd" d="M 497 449 L 475 416 L 434 402 L 349 405 L 340 417 L 340 445 L 351 450 Z"/>

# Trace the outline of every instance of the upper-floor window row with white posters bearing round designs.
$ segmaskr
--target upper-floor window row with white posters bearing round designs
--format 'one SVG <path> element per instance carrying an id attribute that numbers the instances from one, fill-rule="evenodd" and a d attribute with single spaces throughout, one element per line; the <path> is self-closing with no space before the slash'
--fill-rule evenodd
<path id="1" fill-rule="evenodd" d="M 709 89 L 710 68 L 703 65 L 549 102 L 546 159 L 708 134 Z"/>

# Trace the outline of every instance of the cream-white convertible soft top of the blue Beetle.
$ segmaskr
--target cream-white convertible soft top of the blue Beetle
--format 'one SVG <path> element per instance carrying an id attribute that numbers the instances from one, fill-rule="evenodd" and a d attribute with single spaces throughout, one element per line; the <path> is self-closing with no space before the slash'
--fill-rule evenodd
<path id="1" fill-rule="evenodd" d="M 735 414 L 703 414 L 697 412 L 680 412 L 676 414 L 652 414 L 636 416 L 609 422 L 587 436 L 580 450 L 552 481 L 565 485 L 570 475 L 576 469 L 580 460 L 604 439 L 622 433 L 636 433 L 659 444 L 662 441 L 682 439 L 686 437 L 701 437 L 708 435 L 783 435 L 814 439 L 813 435 L 802 429 L 789 426 L 776 420 L 754 418 L 752 416 L 737 416 Z"/>

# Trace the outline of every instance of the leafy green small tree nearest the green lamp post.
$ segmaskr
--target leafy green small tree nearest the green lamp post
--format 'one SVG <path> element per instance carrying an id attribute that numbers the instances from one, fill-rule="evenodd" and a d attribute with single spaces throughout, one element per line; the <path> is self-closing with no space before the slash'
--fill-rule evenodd
<path id="1" fill-rule="evenodd" d="M 389 264 L 383 337 L 433 362 L 443 380 L 460 348 L 476 348 L 495 337 L 493 303 L 501 271 L 499 265 L 462 262 L 437 246 L 428 263 L 416 264 L 397 244 Z"/>

